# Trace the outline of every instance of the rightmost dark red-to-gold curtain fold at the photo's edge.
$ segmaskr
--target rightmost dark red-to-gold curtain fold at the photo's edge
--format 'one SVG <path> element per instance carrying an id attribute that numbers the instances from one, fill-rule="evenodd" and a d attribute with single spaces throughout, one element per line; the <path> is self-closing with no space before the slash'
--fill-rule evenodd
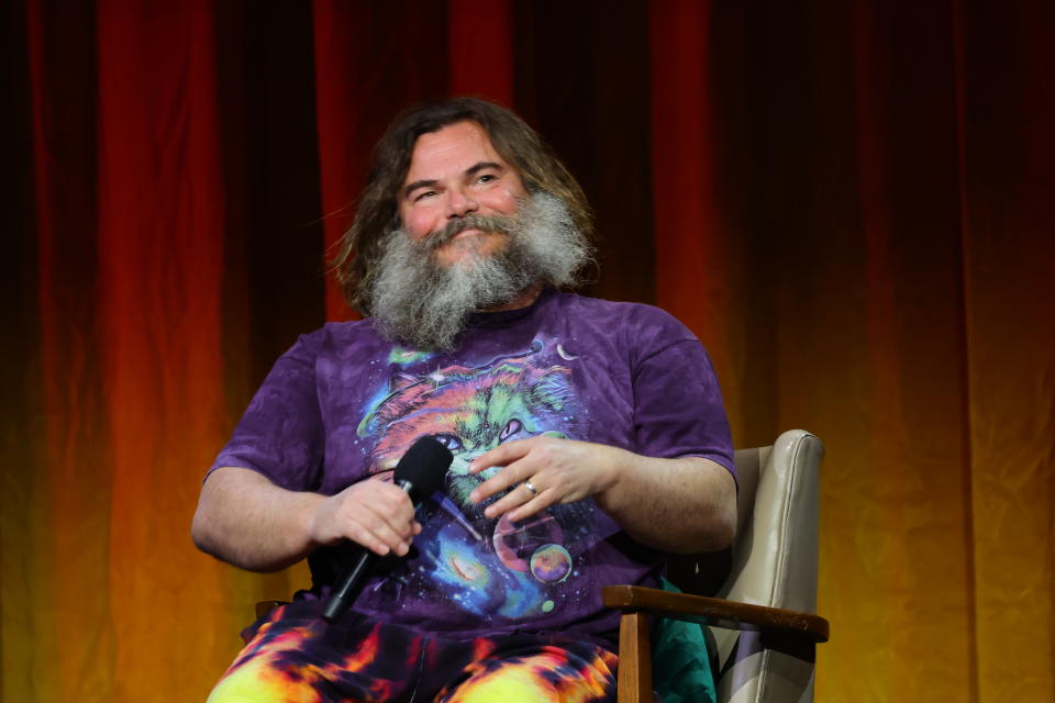
<path id="1" fill-rule="evenodd" d="M 1055 10 L 957 4 L 977 687 L 1039 701 L 1055 689 Z"/>

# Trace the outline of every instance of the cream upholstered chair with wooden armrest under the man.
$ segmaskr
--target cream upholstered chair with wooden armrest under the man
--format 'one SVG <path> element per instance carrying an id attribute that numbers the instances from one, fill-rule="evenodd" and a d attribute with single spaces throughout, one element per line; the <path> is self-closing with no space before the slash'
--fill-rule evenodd
<path id="1" fill-rule="evenodd" d="M 623 611 L 620 703 L 653 700 L 649 614 L 710 626 L 719 701 L 813 700 L 815 644 L 826 641 L 829 632 L 828 621 L 811 614 L 823 456 L 821 440 L 801 429 L 781 434 L 771 447 L 736 451 L 738 515 L 731 554 L 677 557 L 670 567 L 677 585 L 699 592 L 701 577 L 724 556 L 729 574 L 712 591 L 717 598 L 632 585 L 602 590 L 604 604 Z"/>

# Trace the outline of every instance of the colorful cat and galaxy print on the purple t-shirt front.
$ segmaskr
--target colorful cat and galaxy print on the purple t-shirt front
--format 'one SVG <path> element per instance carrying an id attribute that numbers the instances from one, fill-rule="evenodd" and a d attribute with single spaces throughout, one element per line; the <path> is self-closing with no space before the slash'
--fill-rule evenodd
<path id="1" fill-rule="evenodd" d="M 585 413 L 571 386 L 571 369 L 553 362 L 545 346 L 536 341 L 521 354 L 476 367 L 397 372 L 388 393 L 360 423 L 360 436 L 377 438 L 370 453 L 370 471 L 377 475 L 391 471 L 407 447 L 424 435 L 454 454 L 444 494 L 426 510 L 436 529 L 415 540 L 429 566 L 400 577 L 422 592 L 440 585 L 463 607 L 493 609 L 518 618 L 551 612 L 557 606 L 552 591 L 566 590 L 562 584 L 575 571 L 580 533 L 596 510 L 592 502 L 554 506 L 513 523 L 487 518 L 486 504 L 469 501 L 476 486 L 501 470 L 470 475 L 469 462 L 477 456 L 514 439 L 578 436 Z M 413 353 L 406 356 L 421 361 Z"/>

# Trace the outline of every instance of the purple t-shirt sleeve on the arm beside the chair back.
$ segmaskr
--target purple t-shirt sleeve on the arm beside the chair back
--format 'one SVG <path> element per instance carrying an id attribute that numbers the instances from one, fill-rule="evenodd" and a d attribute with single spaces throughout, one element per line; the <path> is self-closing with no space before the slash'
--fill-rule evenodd
<path id="1" fill-rule="evenodd" d="M 646 335 L 634 367 L 634 427 L 638 453 L 703 457 L 733 478 L 733 440 L 722 392 L 703 345 L 673 317 Z"/>

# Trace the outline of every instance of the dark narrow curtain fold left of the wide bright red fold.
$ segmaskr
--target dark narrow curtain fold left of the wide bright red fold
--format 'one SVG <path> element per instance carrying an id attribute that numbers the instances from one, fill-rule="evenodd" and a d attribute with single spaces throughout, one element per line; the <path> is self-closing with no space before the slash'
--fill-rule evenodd
<path id="1" fill-rule="evenodd" d="M 60 700 L 86 682 L 112 690 L 110 481 L 99 338 L 95 44 L 82 5 L 68 23 L 26 8 L 38 346 L 13 413 L 36 413 L 30 454 L 4 461 L 3 687 Z M 85 133 L 87 132 L 87 134 Z M 86 138 L 87 137 L 87 138 Z M 69 237 L 79 232 L 81 236 Z M 75 578 L 74 578 L 75 577 Z M 84 599 L 88 592 L 98 598 Z M 67 649 L 65 636 L 84 633 Z M 77 636 L 77 635 L 75 635 Z M 25 646 L 30 643 L 31 646 Z"/>

